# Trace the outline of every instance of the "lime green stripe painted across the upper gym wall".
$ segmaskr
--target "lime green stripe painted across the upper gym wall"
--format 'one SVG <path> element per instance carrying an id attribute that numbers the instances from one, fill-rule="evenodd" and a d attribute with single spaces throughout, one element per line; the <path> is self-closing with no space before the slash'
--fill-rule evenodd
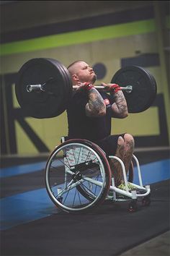
<path id="1" fill-rule="evenodd" d="M 60 46 L 71 46 L 80 43 L 91 43 L 98 40 L 120 38 L 128 35 L 151 33 L 155 30 L 155 22 L 153 19 L 151 19 L 138 22 L 128 22 L 119 25 L 97 27 L 59 35 L 49 35 L 41 38 L 1 44 L 0 56 L 38 51 Z"/>

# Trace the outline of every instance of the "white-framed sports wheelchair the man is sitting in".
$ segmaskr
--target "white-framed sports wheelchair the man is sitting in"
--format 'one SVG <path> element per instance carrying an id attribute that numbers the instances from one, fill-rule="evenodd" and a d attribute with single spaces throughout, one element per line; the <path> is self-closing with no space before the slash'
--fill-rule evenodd
<path id="1" fill-rule="evenodd" d="M 114 177 L 109 166 L 109 159 L 115 159 L 122 166 L 125 190 L 115 187 Z M 139 184 L 133 183 L 133 165 L 138 169 Z M 115 155 L 107 155 L 94 142 L 89 140 L 65 140 L 61 138 L 58 145 L 50 154 L 45 166 L 45 187 L 50 200 L 68 213 L 80 213 L 100 205 L 109 200 L 111 202 L 130 201 L 128 210 L 138 209 L 137 200 L 143 205 L 151 203 L 151 188 L 143 187 L 138 158 L 133 155 L 129 169 L 129 176 L 125 165 Z M 135 187 L 128 189 L 128 183 Z M 143 193 L 138 194 L 138 189 Z"/>

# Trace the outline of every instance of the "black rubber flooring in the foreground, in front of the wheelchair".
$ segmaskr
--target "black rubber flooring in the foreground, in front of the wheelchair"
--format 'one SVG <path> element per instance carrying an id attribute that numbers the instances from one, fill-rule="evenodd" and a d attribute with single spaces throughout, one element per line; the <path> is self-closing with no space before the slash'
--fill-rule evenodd
<path id="1" fill-rule="evenodd" d="M 29 189 L 33 179 L 32 174 L 30 179 L 27 175 Z M 37 180 L 40 183 L 40 179 Z M 32 187 L 35 189 L 39 185 L 35 179 Z M 152 184 L 151 205 L 143 207 L 139 201 L 135 213 L 128 212 L 128 202 L 104 202 L 90 213 L 61 212 L 1 231 L 1 255 L 120 255 L 169 230 L 169 185 L 169 180 Z M 4 196 L 11 195 L 12 189 L 6 192 L 5 187 Z"/>

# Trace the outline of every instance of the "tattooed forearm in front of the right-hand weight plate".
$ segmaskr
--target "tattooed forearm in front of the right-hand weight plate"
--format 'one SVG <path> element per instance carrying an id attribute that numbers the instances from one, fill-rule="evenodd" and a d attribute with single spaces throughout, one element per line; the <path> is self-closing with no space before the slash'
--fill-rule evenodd
<path id="1" fill-rule="evenodd" d="M 125 100 L 125 96 L 121 91 L 115 93 L 115 103 L 112 104 L 113 116 L 118 118 L 124 118 L 128 116 L 128 106 Z"/>

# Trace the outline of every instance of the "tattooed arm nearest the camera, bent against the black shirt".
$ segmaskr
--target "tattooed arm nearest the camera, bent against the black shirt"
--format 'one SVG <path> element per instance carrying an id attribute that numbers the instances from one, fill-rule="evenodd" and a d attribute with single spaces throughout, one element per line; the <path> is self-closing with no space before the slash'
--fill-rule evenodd
<path id="1" fill-rule="evenodd" d="M 89 103 L 86 104 L 87 116 L 104 116 L 106 114 L 106 106 L 99 92 L 91 88 L 89 90 Z"/>

